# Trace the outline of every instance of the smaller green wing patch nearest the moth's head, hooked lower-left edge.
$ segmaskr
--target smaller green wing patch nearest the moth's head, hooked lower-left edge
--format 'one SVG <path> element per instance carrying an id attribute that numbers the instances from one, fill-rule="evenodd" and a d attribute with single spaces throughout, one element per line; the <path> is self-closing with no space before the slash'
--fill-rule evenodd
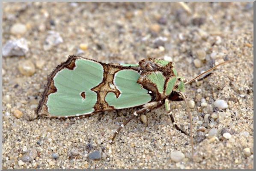
<path id="1" fill-rule="evenodd" d="M 137 71 L 118 71 L 115 75 L 114 84 L 121 94 L 117 98 L 116 94 L 109 92 L 105 97 L 108 105 L 114 106 L 115 109 L 123 109 L 148 103 L 151 96 L 146 89 L 137 83 L 139 77 L 140 74 Z"/>

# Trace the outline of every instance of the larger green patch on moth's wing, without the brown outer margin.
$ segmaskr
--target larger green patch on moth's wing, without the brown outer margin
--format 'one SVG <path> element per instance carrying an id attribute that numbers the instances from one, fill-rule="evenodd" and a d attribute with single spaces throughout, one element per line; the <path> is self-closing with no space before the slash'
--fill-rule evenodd
<path id="1" fill-rule="evenodd" d="M 94 111 L 97 94 L 90 89 L 103 80 L 103 67 L 97 62 L 78 59 L 73 70 L 63 69 L 54 77 L 57 92 L 48 96 L 48 112 L 53 116 L 70 116 Z M 80 94 L 84 92 L 85 98 Z"/>

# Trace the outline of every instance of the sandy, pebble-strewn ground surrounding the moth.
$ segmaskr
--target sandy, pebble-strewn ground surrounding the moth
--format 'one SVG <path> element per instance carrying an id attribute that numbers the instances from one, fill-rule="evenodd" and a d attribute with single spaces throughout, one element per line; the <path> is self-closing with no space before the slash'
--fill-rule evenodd
<path id="1" fill-rule="evenodd" d="M 3 44 L 25 38 L 29 47 L 25 55 L 3 57 L 3 168 L 253 168 L 253 3 L 188 7 L 191 11 L 178 3 L 3 3 Z M 47 39 L 50 30 L 60 34 L 55 45 Z M 80 120 L 36 118 L 48 74 L 73 54 L 101 62 L 168 59 L 188 79 L 223 60 L 237 62 L 186 85 L 195 102 L 191 161 L 189 136 L 173 127 L 163 107 L 145 114 L 147 124 L 131 121 L 113 145 L 113 132 L 135 109 Z M 214 107 L 217 99 L 228 108 Z M 172 103 L 177 124 L 189 132 L 185 109 L 184 102 Z M 225 132 L 231 137 L 224 138 Z M 94 150 L 101 159 L 88 158 Z M 185 156 L 176 162 L 173 151 Z"/>

